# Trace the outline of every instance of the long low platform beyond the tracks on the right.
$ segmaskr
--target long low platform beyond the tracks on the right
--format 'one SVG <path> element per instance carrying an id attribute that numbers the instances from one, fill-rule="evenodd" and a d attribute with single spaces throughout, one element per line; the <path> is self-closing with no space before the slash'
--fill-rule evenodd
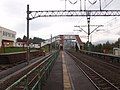
<path id="1" fill-rule="evenodd" d="M 120 56 L 112 55 L 112 54 L 105 54 L 105 53 L 98 53 L 98 52 L 92 52 L 92 51 L 85 51 L 85 50 L 80 50 L 81 53 L 97 57 L 100 59 L 106 59 L 110 60 L 112 62 L 120 62 Z"/>

